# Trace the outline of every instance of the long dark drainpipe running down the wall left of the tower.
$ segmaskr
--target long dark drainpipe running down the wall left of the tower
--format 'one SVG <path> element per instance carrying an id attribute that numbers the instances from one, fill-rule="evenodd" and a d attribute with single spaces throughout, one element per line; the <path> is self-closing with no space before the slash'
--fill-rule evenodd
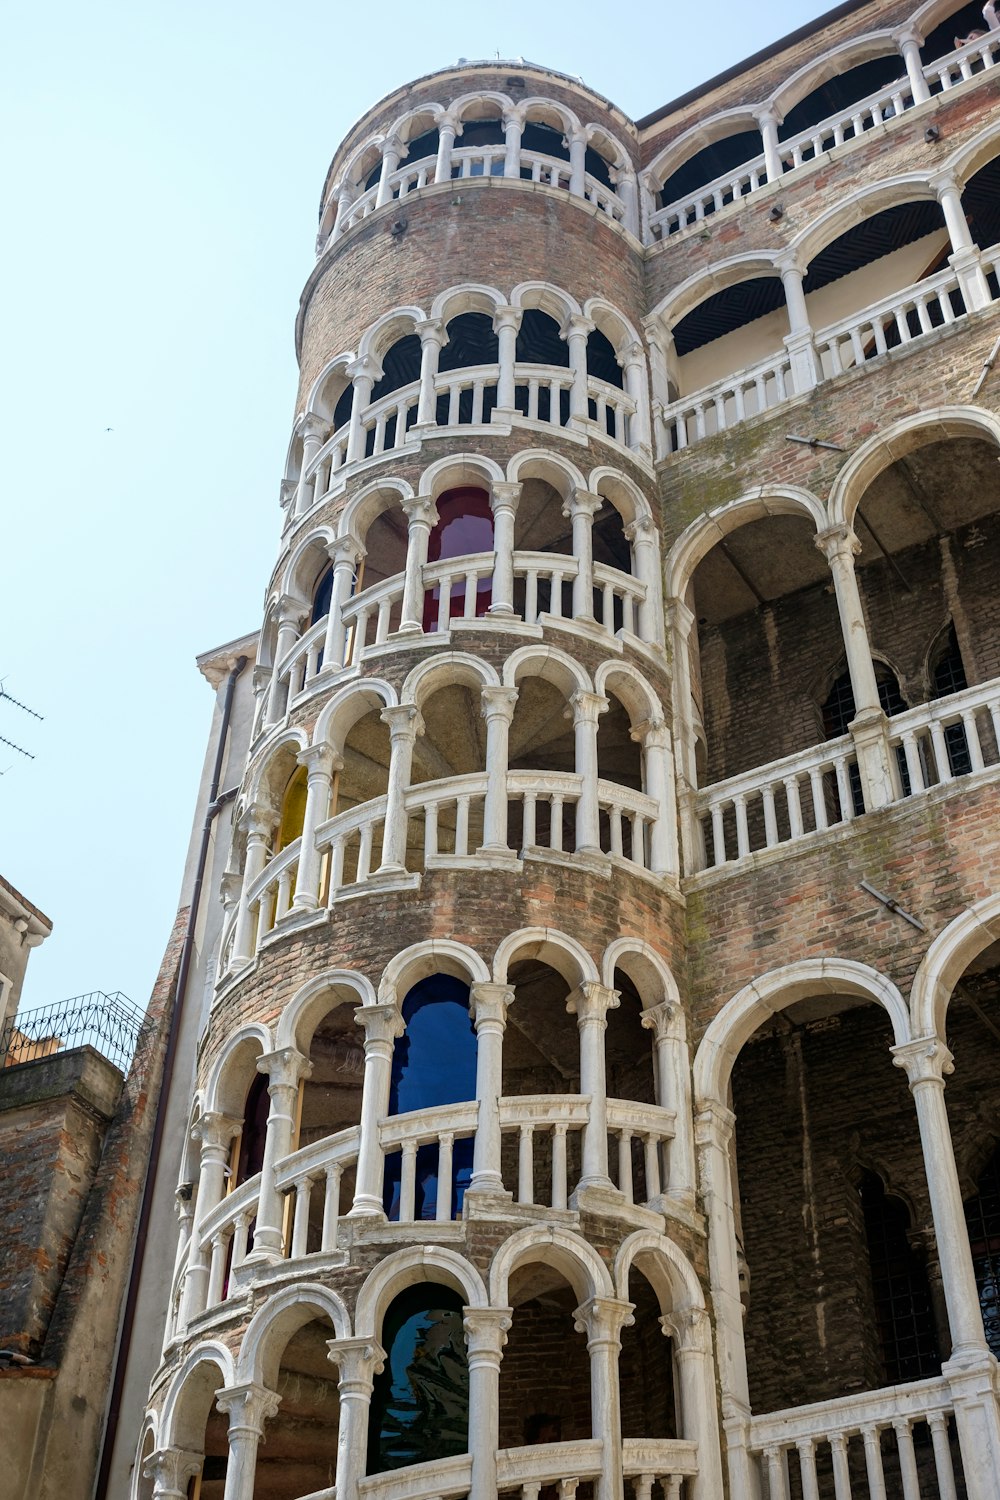
<path id="1" fill-rule="evenodd" d="M 232 792 L 226 792 L 223 796 L 219 796 L 219 782 L 222 778 L 222 762 L 225 758 L 226 740 L 229 735 L 229 720 L 232 718 L 232 696 L 235 693 L 235 682 L 243 669 L 246 668 L 246 663 L 247 657 L 240 657 L 237 660 L 235 666 L 229 672 L 226 681 L 226 696 L 222 700 L 222 723 L 219 724 L 216 764 L 211 771 L 211 784 L 208 788 L 208 806 L 205 808 L 205 820 L 201 826 L 201 848 L 198 849 L 195 884 L 190 892 L 187 927 L 184 928 L 184 942 L 180 950 L 180 963 L 177 966 L 174 1010 L 171 1012 L 169 1030 L 166 1032 L 166 1048 L 163 1052 L 163 1074 L 160 1078 L 159 1098 L 156 1101 L 156 1119 L 153 1122 L 153 1137 L 150 1140 L 150 1160 L 145 1168 L 145 1184 L 142 1186 L 139 1221 L 135 1228 L 135 1245 L 132 1248 L 132 1268 L 129 1270 L 129 1287 L 124 1296 L 124 1310 L 121 1312 L 121 1335 L 118 1338 L 114 1374 L 111 1377 L 111 1394 L 108 1396 L 108 1419 L 105 1422 L 103 1438 L 100 1444 L 100 1462 L 97 1466 L 97 1479 L 94 1484 L 94 1500 L 108 1500 L 108 1480 L 111 1478 L 111 1458 L 114 1454 L 114 1443 L 118 1432 L 118 1416 L 121 1412 L 121 1390 L 124 1388 L 124 1371 L 129 1362 L 129 1350 L 132 1348 L 135 1306 L 139 1298 L 139 1272 L 142 1268 L 142 1250 L 145 1246 L 145 1236 L 148 1234 L 150 1228 L 150 1215 L 153 1212 L 153 1190 L 156 1185 L 156 1168 L 159 1166 L 160 1148 L 163 1143 L 163 1128 L 166 1124 L 166 1104 L 169 1098 L 169 1086 L 174 1077 L 174 1059 L 177 1056 L 180 1018 L 184 1008 L 184 992 L 187 988 L 190 960 L 195 951 L 195 927 L 198 924 L 201 888 L 205 880 L 205 866 L 208 864 L 208 840 L 211 838 L 211 825 L 216 819 L 216 813 L 219 812 L 220 807 L 225 807 L 225 804 L 234 795 Z"/>

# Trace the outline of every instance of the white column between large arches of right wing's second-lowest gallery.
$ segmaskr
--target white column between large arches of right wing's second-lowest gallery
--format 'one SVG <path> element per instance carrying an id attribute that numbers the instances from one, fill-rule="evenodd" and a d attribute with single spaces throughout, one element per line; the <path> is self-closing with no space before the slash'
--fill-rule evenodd
<path id="1" fill-rule="evenodd" d="M 895 780 L 889 750 L 889 723 L 879 700 L 879 682 L 871 662 L 868 627 L 861 606 L 855 558 L 861 542 L 850 526 L 820 531 L 816 544 L 829 562 L 837 594 L 847 672 L 855 694 L 855 718 L 850 732 L 858 750 L 858 770 L 865 792 L 865 807 L 888 807 L 895 801 Z"/>

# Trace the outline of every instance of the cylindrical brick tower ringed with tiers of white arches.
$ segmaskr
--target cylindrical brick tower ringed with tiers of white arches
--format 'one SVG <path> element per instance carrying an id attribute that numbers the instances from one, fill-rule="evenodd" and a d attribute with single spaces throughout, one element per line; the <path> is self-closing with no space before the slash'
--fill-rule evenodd
<path id="1" fill-rule="evenodd" d="M 334 158 L 157 1497 L 718 1494 L 639 231 L 522 63 Z"/>

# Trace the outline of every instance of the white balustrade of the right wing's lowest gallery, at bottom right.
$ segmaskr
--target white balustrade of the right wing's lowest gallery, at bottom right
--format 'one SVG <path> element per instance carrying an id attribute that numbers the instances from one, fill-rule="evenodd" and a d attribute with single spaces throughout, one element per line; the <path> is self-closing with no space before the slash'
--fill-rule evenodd
<path id="1" fill-rule="evenodd" d="M 829 1470 L 838 1500 L 885 1500 L 886 1492 L 898 1492 L 897 1473 L 907 1500 L 918 1496 L 957 1500 L 949 1440 L 952 1416 L 948 1382 L 916 1380 L 888 1390 L 753 1416 L 750 1449 L 768 1500 L 790 1500 L 792 1494 L 814 1497 L 820 1492 L 819 1473 Z M 931 1438 L 930 1455 L 921 1444 L 924 1482 L 915 1448 L 915 1430 L 919 1432 L 922 1426 L 930 1430 Z M 859 1479 L 862 1468 L 864 1479 Z"/>

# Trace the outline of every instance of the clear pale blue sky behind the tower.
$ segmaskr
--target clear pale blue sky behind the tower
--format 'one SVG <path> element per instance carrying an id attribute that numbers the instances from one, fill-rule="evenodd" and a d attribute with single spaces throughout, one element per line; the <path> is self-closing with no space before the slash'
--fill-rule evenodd
<path id="1" fill-rule="evenodd" d="M 4 21 L 0 873 L 22 1004 L 145 1004 L 211 693 L 259 622 L 328 160 L 376 99 L 523 56 L 655 110 L 825 4 L 21 3 Z M 111 430 L 106 430 L 111 429 Z"/>

